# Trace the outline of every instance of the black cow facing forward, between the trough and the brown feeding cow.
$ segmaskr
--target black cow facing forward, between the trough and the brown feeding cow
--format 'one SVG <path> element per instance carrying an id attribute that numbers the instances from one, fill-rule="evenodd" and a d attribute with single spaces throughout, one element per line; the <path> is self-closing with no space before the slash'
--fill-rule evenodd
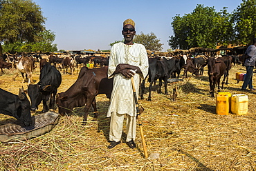
<path id="1" fill-rule="evenodd" d="M 47 112 L 54 108 L 55 96 L 57 94 L 57 88 L 62 83 L 62 75 L 60 71 L 50 63 L 46 63 L 40 71 L 39 82 L 35 85 L 28 86 L 28 96 L 31 101 L 31 110 L 35 111 L 38 105 L 43 101 L 43 111 Z M 49 108 L 47 101 L 50 99 Z"/>

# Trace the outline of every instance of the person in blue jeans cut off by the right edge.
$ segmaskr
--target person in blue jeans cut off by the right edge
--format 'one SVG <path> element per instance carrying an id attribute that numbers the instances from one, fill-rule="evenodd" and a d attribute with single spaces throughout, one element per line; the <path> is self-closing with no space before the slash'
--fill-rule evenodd
<path id="1" fill-rule="evenodd" d="M 253 39 L 253 45 L 247 48 L 246 54 L 248 55 L 248 58 L 244 62 L 244 66 L 246 66 L 246 79 L 244 79 L 241 90 L 246 90 L 247 86 L 250 90 L 255 90 L 253 88 L 253 68 L 256 61 L 256 38 Z"/>

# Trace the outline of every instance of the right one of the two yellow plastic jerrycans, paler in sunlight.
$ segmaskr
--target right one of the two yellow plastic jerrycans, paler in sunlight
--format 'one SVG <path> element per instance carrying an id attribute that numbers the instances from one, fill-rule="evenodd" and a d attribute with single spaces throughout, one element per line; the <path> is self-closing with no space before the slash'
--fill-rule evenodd
<path id="1" fill-rule="evenodd" d="M 247 114 L 248 96 L 246 94 L 234 94 L 231 97 L 231 112 L 233 114 Z"/>

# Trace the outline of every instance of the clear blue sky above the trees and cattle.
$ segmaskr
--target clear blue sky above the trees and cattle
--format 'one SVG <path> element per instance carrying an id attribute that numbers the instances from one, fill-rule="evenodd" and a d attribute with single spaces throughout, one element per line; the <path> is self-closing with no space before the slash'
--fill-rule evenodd
<path id="1" fill-rule="evenodd" d="M 214 7 L 219 12 L 237 8 L 242 0 L 33 0 L 42 8 L 46 29 L 56 34 L 58 50 L 109 50 L 110 43 L 122 40 L 122 22 L 133 19 L 136 33 L 154 32 L 170 48 L 172 18 L 193 12 L 197 4 Z"/>

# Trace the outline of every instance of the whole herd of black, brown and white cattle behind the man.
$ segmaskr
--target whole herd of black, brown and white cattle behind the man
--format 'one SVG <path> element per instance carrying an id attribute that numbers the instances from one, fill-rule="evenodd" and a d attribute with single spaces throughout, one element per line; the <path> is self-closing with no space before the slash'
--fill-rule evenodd
<path id="1" fill-rule="evenodd" d="M 86 63 L 100 66 L 100 68 L 87 68 Z M 222 88 L 224 83 L 228 83 L 228 72 L 232 65 L 241 64 L 244 56 L 226 55 L 222 57 L 149 57 L 149 97 L 151 100 L 152 84 L 159 80 L 158 93 L 161 93 L 162 82 L 165 86 L 165 94 L 167 94 L 167 79 L 179 78 L 181 70 L 184 69 L 183 77 L 188 77 L 187 72 L 192 72 L 195 76 L 203 75 L 203 68 L 208 66 L 208 77 L 210 82 L 210 94 L 214 97 L 214 88 L 218 86 L 218 92 L 221 77 Z M 32 73 L 35 71 L 35 62 L 39 62 L 40 76 L 39 81 L 33 84 Z M 233 64 L 232 64 L 233 63 Z M 59 65 L 59 66 L 57 66 Z M 62 83 L 62 74 L 59 71 L 62 66 L 63 74 L 67 73 L 70 68 L 70 74 L 73 74 L 75 66 L 83 66 L 80 69 L 77 80 L 66 92 L 57 93 L 57 89 Z M 21 72 L 22 77 L 26 74 L 28 81 L 28 90 L 21 88 L 19 95 L 12 94 L 0 88 L 0 113 L 15 117 L 22 121 L 24 125 L 31 125 L 32 119 L 30 111 L 35 111 L 38 105 L 43 101 L 42 112 L 54 109 L 57 103 L 59 113 L 64 115 L 71 113 L 73 108 L 85 106 L 84 122 L 87 120 L 89 108 L 92 105 L 95 118 L 98 116 L 95 97 L 98 94 L 106 94 L 110 99 L 113 79 L 107 78 L 108 58 L 90 56 L 81 57 L 80 55 L 65 57 L 57 57 L 53 54 L 47 58 L 40 55 L 17 57 L 0 57 L 0 68 L 2 74 L 3 68 L 17 68 Z M 17 76 L 16 76 L 17 77 Z M 140 99 L 143 99 L 145 92 L 145 81 L 141 82 Z M 28 100 L 26 94 L 30 97 Z M 49 101 L 49 105 L 47 105 Z"/>

